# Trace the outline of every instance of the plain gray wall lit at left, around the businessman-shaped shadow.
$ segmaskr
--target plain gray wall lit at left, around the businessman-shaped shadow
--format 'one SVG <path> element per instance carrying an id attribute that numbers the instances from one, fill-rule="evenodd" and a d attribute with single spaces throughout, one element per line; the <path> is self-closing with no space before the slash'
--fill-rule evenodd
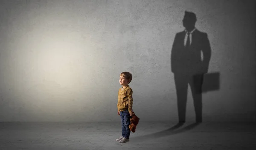
<path id="1" fill-rule="evenodd" d="M 1 0 L 0 121 L 119 121 L 123 71 L 141 121 L 177 121 L 170 56 L 185 10 L 220 73 L 203 121 L 255 121 L 254 0 Z"/>

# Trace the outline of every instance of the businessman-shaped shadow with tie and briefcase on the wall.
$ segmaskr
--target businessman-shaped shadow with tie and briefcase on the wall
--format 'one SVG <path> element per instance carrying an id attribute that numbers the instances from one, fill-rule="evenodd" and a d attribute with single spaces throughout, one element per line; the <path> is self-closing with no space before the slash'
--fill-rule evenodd
<path id="1" fill-rule="evenodd" d="M 202 92 L 219 89 L 219 73 L 207 73 L 211 58 L 208 35 L 195 28 L 196 21 L 193 12 L 185 11 L 185 30 L 175 35 L 172 45 L 171 69 L 174 73 L 179 122 L 186 121 L 188 84 L 197 122 L 202 122 Z"/>

